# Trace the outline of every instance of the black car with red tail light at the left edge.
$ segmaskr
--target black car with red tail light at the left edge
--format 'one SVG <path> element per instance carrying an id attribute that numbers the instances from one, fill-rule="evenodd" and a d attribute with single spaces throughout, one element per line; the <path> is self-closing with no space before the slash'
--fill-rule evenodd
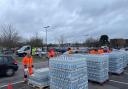
<path id="1" fill-rule="evenodd" d="M 0 75 L 13 76 L 18 70 L 18 63 L 12 56 L 0 56 Z"/>

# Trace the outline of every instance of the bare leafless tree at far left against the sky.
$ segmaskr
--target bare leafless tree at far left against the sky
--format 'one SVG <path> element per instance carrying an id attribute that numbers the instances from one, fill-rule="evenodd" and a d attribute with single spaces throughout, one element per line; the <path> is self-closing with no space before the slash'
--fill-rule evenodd
<path id="1" fill-rule="evenodd" d="M 21 37 L 19 36 L 13 25 L 8 24 L 1 26 L 0 38 L 2 47 L 13 48 L 17 46 Z"/>

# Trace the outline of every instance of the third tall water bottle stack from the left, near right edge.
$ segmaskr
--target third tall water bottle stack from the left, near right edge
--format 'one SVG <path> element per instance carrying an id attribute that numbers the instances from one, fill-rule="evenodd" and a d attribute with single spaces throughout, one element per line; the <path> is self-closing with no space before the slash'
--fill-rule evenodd
<path id="1" fill-rule="evenodd" d="M 122 52 L 109 54 L 109 72 L 121 74 L 124 71 L 124 55 Z"/>

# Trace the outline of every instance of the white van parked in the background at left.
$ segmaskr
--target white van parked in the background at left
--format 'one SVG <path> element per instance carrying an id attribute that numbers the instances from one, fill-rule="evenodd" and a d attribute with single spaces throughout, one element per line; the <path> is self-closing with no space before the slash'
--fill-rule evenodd
<path id="1" fill-rule="evenodd" d="M 24 57 L 27 54 L 27 51 L 31 52 L 31 46 L 30 45 L 23 46 L 19 50 L 17 50 L 17 55 L 19 57 Z"/>

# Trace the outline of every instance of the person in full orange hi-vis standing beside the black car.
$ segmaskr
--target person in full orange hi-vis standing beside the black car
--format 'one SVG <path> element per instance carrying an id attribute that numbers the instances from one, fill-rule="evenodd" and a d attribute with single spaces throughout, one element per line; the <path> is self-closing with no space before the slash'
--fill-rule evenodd
<path id="1" fill-rule="evenodd" d="M 27 81 L 27 78 L 33 74 L 33 58 L 31 52 L 28 51 L 27 55 L 23 58 L 22 64 L 24 67 L 24 81 Z M 27 73 L 26 73 L 27 71 Z"/>

